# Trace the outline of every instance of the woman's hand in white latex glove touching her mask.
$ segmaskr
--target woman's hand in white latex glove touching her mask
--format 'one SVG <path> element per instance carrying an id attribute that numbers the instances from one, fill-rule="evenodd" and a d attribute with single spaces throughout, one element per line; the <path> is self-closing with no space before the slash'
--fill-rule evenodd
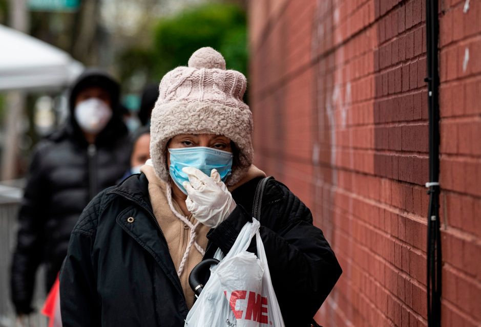
<path id="1" fill-rule="evenodd" d="M 201 224 L 217 227 L 236 208 L 231 192 L 222 182 L 216 169 L 212 169 L 208 177 L 197 168 L 184 167 L 182 171 L 189 176 L 189 183 L 184 182 L 187 191 L 185 204 Z"/>

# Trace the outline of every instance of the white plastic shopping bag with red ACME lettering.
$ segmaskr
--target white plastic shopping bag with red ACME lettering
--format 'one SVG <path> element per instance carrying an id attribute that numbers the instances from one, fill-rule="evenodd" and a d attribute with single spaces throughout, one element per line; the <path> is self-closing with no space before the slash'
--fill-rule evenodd
<path id="1" fill-rule="evenodd" d="M 185 319 L 189 327 L 284 327 L 270 280 L 256 219 L 242 228 L 231 251 L 211 268 L 211 277 Z M 257 258 L 247 252 L 256 236 Z"/>

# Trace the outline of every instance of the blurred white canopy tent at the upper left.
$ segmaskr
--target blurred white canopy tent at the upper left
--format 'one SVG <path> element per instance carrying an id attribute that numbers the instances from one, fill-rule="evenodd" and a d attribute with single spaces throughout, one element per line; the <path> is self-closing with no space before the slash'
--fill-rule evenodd
<path id="1" fill-rule="evenodd" d="M 0 25 L 0 91 L 57 89 L 83 70 L 68 53 Z"/>

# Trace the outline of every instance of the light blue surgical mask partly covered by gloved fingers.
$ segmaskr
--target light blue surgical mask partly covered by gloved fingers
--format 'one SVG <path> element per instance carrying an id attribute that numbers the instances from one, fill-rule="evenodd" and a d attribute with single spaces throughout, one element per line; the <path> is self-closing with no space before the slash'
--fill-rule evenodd
<path id="1" fill-rule="evenodd" d="M 183 167 L 195 167 L 207 176 L 211 176 L 212 169 L 217 169 L 222 182 L 231 175 L 234 157 L 231 152 L 203 146 L 169 149 L 169 152 L 171 155 L 169 173 L 175 184 L 185 194 L 187 191 L 182 184 L 189 182 L 189 177 L 182 171 Z"/>

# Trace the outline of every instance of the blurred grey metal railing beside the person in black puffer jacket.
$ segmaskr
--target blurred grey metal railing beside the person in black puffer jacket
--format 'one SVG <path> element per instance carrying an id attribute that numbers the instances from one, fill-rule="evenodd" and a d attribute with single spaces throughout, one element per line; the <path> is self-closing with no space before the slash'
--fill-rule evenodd
<path id="1" fill-rule="evenodd" d="M 0 327 L 17 326 L 15 310 L 10 300 L 10 265 L 15 249 L 17 234 L 17 213 L 22 199 L 23 181 L 0 183 Z M 45 297 L 44 269 L 37 273 L 33 306 L 35 313 L 29 316 L 31 327 L 46 327 L 47 319 L 39 313 Z"/>

